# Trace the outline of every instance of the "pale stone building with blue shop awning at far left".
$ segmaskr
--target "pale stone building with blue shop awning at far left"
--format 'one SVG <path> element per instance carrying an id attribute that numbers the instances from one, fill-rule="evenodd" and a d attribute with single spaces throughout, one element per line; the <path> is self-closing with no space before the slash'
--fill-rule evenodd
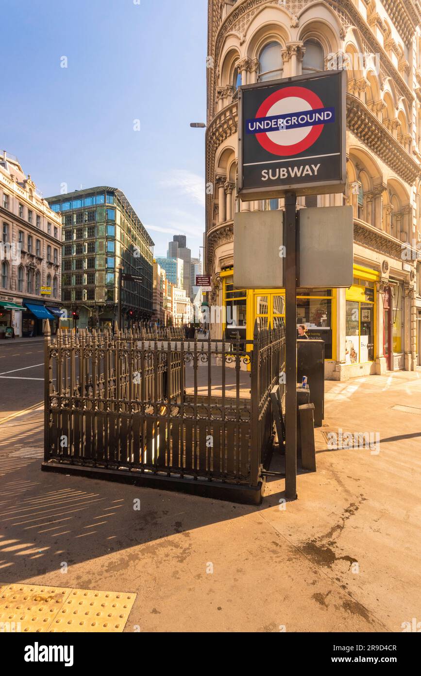
<path id="1" fill-rule="evenodd" d="M 42 335 L 60 316 L 61 219 L 19 160 L 0 154 L 0 338 Z"/>

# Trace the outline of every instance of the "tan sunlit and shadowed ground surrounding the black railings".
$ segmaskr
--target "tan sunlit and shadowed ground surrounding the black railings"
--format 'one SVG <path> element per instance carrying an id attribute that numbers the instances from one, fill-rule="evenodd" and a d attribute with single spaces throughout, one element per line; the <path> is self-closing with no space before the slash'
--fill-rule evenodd
<path id="1" fill-rule="evenodd" d="M 0 349 L 3 370 L 42 360 L 39 344 Z M 326 390 L 317 472 L 286 504 L 270 480 L 259 507 L 42 473 L 42 406 L 0 422 L 0 585 L 136 595 L 126 632 L 402 631 L 421 600 L 421 372 Z M 42 381 L 2 391 L 16 412 L 40 401 Z M 338 429 L 378 431 L 378 454 L 329 450 Z"/>

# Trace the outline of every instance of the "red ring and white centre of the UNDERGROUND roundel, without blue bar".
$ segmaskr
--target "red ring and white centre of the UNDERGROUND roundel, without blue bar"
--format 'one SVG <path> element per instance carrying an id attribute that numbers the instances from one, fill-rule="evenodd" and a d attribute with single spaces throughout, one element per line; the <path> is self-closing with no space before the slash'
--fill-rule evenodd
<path id="1" fill-rule="evenodd" d="M 317 94 L 305 87 L 285 87 L 273 92 L 260 105 L 256 118 L 271 115 L 297 113 L 322 108 L 323 103 Z M 322 133 L 324 124 L 296 129 L 282 129 L 256 134 L 260 145 L 273 155 L 296 155 L 313 145 Z"/>

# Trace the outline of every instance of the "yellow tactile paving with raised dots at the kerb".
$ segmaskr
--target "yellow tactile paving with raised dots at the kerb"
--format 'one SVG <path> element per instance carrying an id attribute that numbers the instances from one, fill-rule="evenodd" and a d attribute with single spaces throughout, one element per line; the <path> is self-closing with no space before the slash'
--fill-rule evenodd
<path id="1" fill-rule="evenodd" d="M 0 583 L 0 623 L 20 623 L 26 632 L 120 632 L 135 599 L 124 592 Z"/>

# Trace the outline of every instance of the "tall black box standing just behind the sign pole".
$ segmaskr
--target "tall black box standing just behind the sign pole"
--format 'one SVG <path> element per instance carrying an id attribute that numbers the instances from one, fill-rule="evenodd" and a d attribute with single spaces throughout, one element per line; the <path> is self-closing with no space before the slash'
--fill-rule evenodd
<path id="1" fill-rule="evenodd" d="M 325 341 L 298 340 L 297 361 L 298 382 L 307 376 L 314 427 L 321 427 L 325 417 Z"/>

